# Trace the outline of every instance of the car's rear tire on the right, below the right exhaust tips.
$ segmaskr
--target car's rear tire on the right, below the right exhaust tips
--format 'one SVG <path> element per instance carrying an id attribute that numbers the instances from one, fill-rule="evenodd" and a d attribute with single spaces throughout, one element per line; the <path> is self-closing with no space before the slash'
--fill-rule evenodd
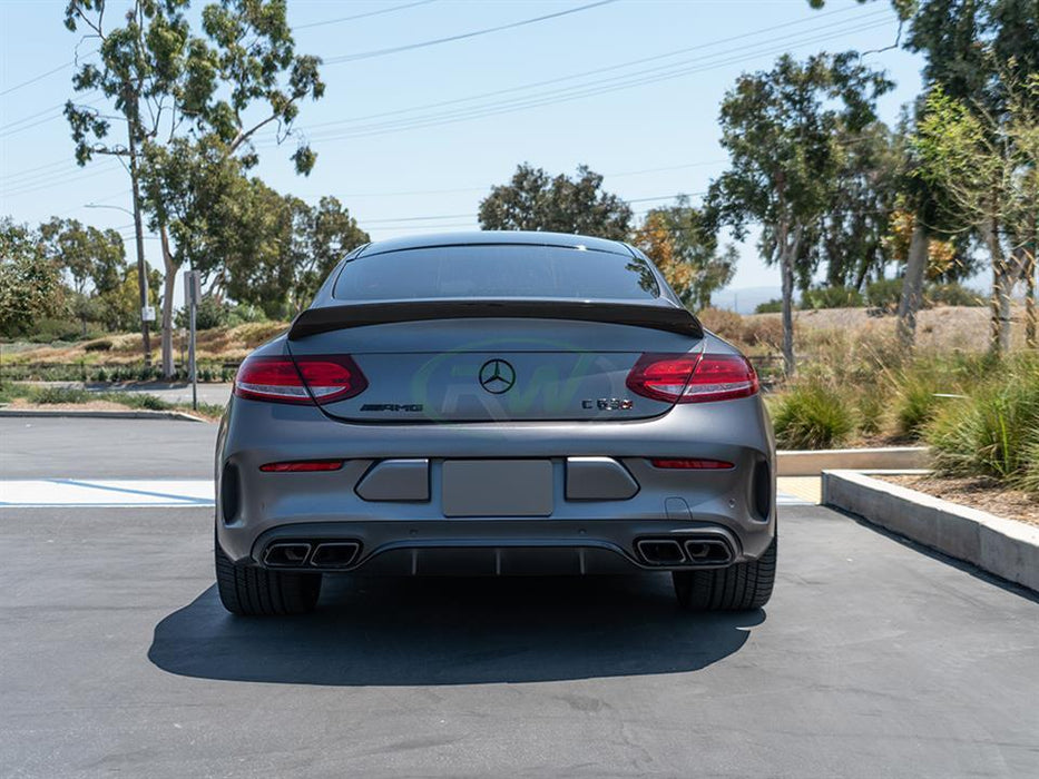
<path id="1" fill-rule="evenodd" d="M 775 583 L 776 541 L 773 539 L 757 560 L 706 571 L 674 571 L 678 603 L 688 611 L 761 609 Z"/>

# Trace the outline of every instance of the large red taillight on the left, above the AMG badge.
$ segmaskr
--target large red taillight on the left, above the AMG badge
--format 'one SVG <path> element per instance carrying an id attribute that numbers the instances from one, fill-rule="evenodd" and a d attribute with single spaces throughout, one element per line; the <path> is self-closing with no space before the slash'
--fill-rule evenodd
<path id="1" fill-rule="evenodd" d="M 252 401 L 320 404 L 364 392 L 367 379 L 347 355 L 248 357 L 235 376 L 235 395 Z"/>

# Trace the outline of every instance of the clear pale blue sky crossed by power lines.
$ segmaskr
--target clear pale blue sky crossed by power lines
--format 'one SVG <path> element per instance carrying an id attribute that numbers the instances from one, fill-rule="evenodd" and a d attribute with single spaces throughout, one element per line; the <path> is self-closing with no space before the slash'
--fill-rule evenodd
<path id="1" fill-rule="evenodd" d="M 293 142 L 277 147 L 267 136 L 256 172 L 307 200 L 339 197 L 375 239 L 476 228 L 480 199 L 521 161 L 553 174 L 587 164 L 641 214 L 679 193 L 696 200 L 724 169 L 718 105 L 741 72 L 765 69 L 784 51 L 883 49 L 898 31 L 886 0 L 830 0 L 823 11 L 806 0 L 616 0 L 388 51 L 594 2 L 288 0 L 298 51 L 327 62 L 324 99 L 305 103 L 297 121 L 318 161 L 297 177 Z M 124 6 L 109 0 L 110 18 Z M 63 7 L 0 0 L 0 215 L 31 224 L 75 217 L 130 238 L 126 214 L 85 207 L 129 208 L 129 184 L 117 162 L 80 169 L 72 159 L 60 116 L 72 68 L 62 66 L 80 39 L 62 26 Z M 79 43 L 80 56 L 92 48 Z M 919 91 L 921 61 L 896 49 L 865 61 L 898 82 L 880 106 L 893 121 Z M 777 284 L 749 241 L 732 288 Z M 733 296 L 716 302 L 732 305 Z"/>

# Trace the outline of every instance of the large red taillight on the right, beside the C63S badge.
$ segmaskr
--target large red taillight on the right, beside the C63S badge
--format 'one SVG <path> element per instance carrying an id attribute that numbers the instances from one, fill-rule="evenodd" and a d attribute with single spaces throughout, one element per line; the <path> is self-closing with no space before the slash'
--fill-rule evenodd
<path id="1" fill-rule="evenodd" d="M 757 374 L 738 354 L 644 354 L 628 374 L 628 389 L 668 403 L 732 401 L 757 393 Z"/>

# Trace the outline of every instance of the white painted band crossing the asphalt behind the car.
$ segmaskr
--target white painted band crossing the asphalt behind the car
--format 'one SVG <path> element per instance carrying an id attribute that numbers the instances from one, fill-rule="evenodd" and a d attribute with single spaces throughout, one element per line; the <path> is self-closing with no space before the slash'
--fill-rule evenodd
<path id="1" fill-rule="evenodd" d="M 0 509 L 212 506 L 208 479 L 26 479 L 0 481 Z M 781 492 L 781 506 L 812 505 Z"/>

